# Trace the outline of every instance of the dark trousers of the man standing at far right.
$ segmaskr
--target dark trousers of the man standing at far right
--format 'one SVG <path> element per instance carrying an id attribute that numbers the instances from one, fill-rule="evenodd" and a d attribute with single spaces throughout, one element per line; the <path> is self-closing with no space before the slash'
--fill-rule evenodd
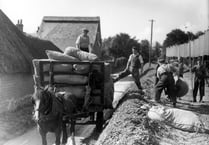
<path id="1" fill-rule="evenodd" d="M 200 101 L 202 101 L 203 96 L 205 95 L 205 80 L 195 78 L 194 89 L 193 89 L 193 101 L 196 102 L 196 96 L 199 89 Z"/>

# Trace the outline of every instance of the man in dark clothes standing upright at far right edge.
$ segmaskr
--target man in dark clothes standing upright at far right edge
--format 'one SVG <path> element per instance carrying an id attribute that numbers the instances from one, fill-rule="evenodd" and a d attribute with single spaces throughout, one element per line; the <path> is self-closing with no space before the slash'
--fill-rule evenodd
<path id="1" fill-rule="evenodd" d="M 205 95 L 205 79 L 208 76 L 206 75 L 206 67 L 204 64 L 201 64 L 200 59 L 197 60 L 197 64 L 192 68 L 192 72 L 195 74 L 193 102 L 197 102 L 196 96 L 197 96 L 198 88 L 200 92 L 199 102 L 202 102 L 203 96 Z"/>

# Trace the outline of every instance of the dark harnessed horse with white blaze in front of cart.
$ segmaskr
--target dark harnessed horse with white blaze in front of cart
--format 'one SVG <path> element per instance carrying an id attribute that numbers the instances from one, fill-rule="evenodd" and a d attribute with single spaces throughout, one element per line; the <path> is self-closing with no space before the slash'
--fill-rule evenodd
<path id="1" fill-rule="evenodd" d="M 67 121 L 63 115 L 72 115 L 76 108 L 76 97 L 71 93 L 55 92 L 52 87 L 40 88 L 35 86 L 32 95 L 34 105 L 34 120 L 42 138 L 42 145 L 47 145 L 48 132 L 55 133 L 55 145 L 67 143 Z"/>

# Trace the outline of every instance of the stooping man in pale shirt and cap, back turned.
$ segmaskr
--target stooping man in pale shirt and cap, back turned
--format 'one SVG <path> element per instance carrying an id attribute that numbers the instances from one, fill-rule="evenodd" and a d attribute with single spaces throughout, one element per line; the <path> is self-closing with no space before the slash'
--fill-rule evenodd
<path id="1" fill-rule="evenodd" d="M 160 66 L 157 69 L 157 77 L 159 81 L 155 85 L 155 101 L 160 103 L 161 93 L 166 89 L 170 100 L 173 102 L 173 106 L 176 107 L 176 95 L 175 95 L 175 81 L 173 72 L 177 69 L 172 64 L 167 64 L 165 58 L 159 58 Z"/>

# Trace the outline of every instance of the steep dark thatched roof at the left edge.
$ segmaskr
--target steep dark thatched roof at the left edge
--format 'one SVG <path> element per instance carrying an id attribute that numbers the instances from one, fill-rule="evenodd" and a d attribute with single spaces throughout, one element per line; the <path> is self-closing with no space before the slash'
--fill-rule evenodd
<path id="1" fill-rule="evenodd" d="M 30 72 L 32 59 L 46 58 L 45 49 L 59 50 L 49 41 L 27 36 L 0 10 L 0 73 Z"/>

